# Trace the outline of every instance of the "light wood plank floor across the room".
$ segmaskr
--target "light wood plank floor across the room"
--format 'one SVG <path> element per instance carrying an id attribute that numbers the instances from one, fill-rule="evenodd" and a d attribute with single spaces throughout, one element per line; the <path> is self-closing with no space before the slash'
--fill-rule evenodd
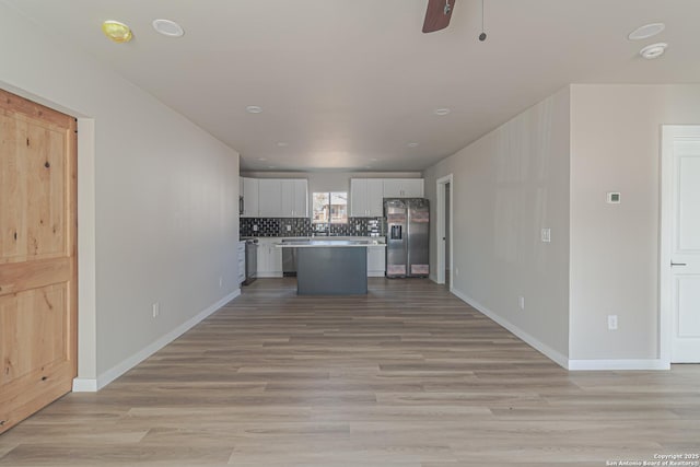
<path id="1" fill-rule="evenodd" d="M 96 394 L 0 436 L 0 466 L 605 466 L 700 453 L 700 367 L 569 373 L 428 280 L 243 295 Z M 592 343 L 594 345 L 594 343 Z"/>

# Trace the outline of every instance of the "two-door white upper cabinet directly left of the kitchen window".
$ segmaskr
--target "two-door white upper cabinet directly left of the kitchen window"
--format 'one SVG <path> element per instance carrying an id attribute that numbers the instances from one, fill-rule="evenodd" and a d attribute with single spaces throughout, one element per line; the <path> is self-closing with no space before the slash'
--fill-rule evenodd
<path id="1" fill-rule="evenodd" d="M 308 180 L 260 178 L 260 218 L 307 218 Z"/>

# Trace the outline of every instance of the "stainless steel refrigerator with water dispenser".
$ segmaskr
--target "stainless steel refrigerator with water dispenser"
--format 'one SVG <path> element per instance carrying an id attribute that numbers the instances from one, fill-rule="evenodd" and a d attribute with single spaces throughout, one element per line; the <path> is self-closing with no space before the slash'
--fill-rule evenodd
<path id="1" fill-rule="evenodd" d="M 423 198 L 385 198 L 386 277 L 428 277 L 430 205 Z"/>

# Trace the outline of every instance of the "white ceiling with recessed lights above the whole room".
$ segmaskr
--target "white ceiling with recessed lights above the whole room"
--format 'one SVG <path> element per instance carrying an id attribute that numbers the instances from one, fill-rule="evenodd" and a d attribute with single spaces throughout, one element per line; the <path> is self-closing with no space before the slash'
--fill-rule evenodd
<path id="1" fill-rule="evenodd" d="M 480 0 L 457 0 L 432 34 L 421 33 L 427 0 L 4 1 L 240 151 L 249 171 L 419 171 L 568 83 L 700 82 L 699 0 L 486 0 L 485 43 Z M 156 17 L 185 36 L 156 34 Z M 108 42 L 104 20 L 129 24 L 133 40 Z M 651 22 L 666 30 L 627 39 Z M 666 55 L 639 57 L 654 42 Z"/>

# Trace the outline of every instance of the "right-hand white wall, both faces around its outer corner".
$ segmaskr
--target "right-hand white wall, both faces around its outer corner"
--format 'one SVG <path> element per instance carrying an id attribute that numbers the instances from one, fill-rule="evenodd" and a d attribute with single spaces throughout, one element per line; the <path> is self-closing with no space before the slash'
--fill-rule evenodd
<path id="1" fill-rule="evenodd" d="M 661 127 L 699 122 L 700 85 L 574 84 L 427 170 L 433 200 L 454 174 L 455 293 L 572 369 L 664 367 Z"/>

